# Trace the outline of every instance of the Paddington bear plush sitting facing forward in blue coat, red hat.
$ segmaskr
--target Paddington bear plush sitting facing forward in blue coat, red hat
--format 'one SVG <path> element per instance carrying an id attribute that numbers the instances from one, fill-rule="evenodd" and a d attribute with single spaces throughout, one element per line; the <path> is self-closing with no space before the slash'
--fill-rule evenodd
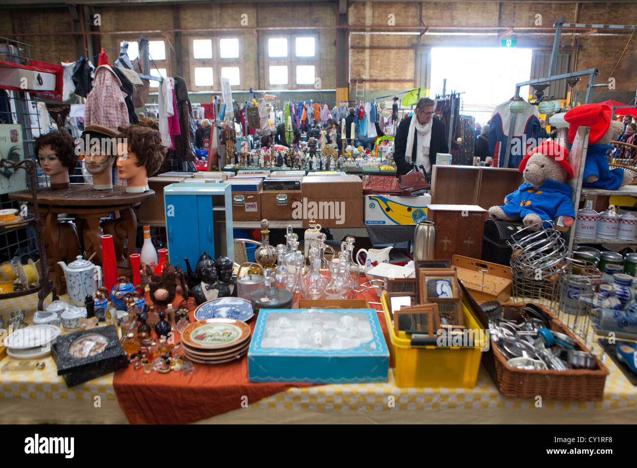
<path id="1" fill-rule="evenodd" d="M 503 206 L 489 208 L 494 220 L 517 221 L 522 218 L 531 230 L 540 230 L 547 221 L 564 216 L 565 227 L 573 225 L 575 209 L 571 201 L 573 168 L 568 151 L 554 141 L 544 141 L 529 151 L 520 162 L 524 183 L 505 197 Z M 546 223 L 548 225 L 548 223 Z"/>

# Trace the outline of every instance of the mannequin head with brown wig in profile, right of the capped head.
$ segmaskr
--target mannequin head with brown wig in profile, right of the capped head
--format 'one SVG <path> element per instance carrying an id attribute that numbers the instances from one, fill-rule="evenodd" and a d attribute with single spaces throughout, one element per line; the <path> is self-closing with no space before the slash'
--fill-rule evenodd
<path id="1" fill-rule="evenodd" d="M 117 170 L 127 181 L 127 192 L 148 190 L 148 176 L 157 172 L 166 157 L 161 133 L 150 127 L 120 127 L 117 143 Z"/>

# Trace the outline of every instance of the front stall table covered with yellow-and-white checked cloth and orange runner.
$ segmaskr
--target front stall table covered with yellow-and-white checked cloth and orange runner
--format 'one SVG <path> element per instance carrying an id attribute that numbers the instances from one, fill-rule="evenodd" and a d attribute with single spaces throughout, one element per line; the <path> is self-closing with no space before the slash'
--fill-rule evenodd
<path id="1" fill-rule="evenodd" d="M 361 295 L 357 296 L 357 299 Z M 363 296 L 369 302 L 378 302 L 371 294 Z M 66 297 L 62 297 L 65 300 Z M 374 305 L 378 310 L 380 306 Z M 3 302 L 3 310 L 25 309 L 27 314 L 37 308 L 37 296 L 29 295 Z M 379 311 L 380 314 L 380 311 Z M 382 318 L 379 315 L 379 318 Z M 384 327 L 383 320 L 381 324 Z M 8 362 L 0 360 L 0 367 Z M 1 423 L 126 423 L 143 422 L 155 416 L 140 411 L 128 415 L 122 407 L 140 404 L 148 409 L 147 402 L 122 399 L 113 374 L 94 379 L 76 388 L 67 388 L 64 380 L 57 376 L 51 357 L 44 359 L 47 367 L 43 371 L 0 372 Z M 631 385 L 624 374 L 608 357 L 604 359 L 610 371 L 606 379 L 604 399 L 601 402 L 543 401 L 538 408 L 536 400 L 503 397 L 481 368 L 475 388 L 398 388 L 390 369 L 385 383 L 338 384 L 321 386 L 290 387 L 287 390 L 268 388 L 267 397 L 254 395 L 254 385 L 247 383 L 247 358 L 240 362 L 222 366 L 195 364 L 192 376 L 150 376 L 142 370 L 130 367 L 118 372 L 115 379 L 125 378 L 125 385 L 140 385 L 145 392 L 152 390 L 164 404 L 165 413 L 175 413 L 171 418 L 183 418 L 183 422 L 199 423 L 629 423 L 637 416 L 637 386 Z M 234 367 L 234 369 L 233 369 Z M 243 372 L 243 379 L 241 379 Z M 156 372 L 155 372 L 156 374 Z M 225 382 L 225 390 L 232 393 L 223 402 L 226 408 L 236 409 L 205 418 L 207 411 L 218 411 L 218 402 L 202 406 L 198 399 L 188 402 L 190 378 L 201 381 L 203 375 L 216 376 L 219 385 Z M 199 375 L 197 377 L 197 375 Z M 225 375 L 225 380 L 224 380 Z M 162 385 L 159 378 L 165 379 Z M 159 381 L 159 382 L 158 382 Z M 183 381 L 183 383 L 181 382 Z M 152 382 L 152 384 L 151 384 Z M 211 386 L 215 386 L 212 382 Z M 281 384 L 283 386 L 289 386 Z M 252 387 L 252 388 L 250 388 Z M 175 392 L 175 390 L 178 390 Z M 250 393 L 252 392 L 252 393 Z M 209 394 L 210 395 L 210 394 Z M 252 395 L 252 396 L 251 396 Z M 99 397 L 99 398 L 97 398 Z M 242 398 L 243 397 L 243 398 Z M 208 401 L 213 398 L 209 397 Z M 256 401 L 255 401 L 256 400 Z M 157 403 L 155 402 L 155 404 Z M 192 405 L 191 405 L 192 403 Z M 241 404 L 243 403 L 243 406 Z M 183 405 L 186 406 L 183 406 Z M 180 413 L 175 408 L 190 408 Z M 215 406 L 217 409 L 215 409 Z M 197 412 L 193 413 L 192 408 Z M 449 411 L 455 410 L 455 411 Z"/>

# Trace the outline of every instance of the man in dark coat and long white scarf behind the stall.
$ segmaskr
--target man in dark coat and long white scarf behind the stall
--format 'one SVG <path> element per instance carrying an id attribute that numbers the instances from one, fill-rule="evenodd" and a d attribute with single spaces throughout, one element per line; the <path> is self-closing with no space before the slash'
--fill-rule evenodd
<path id="1" fill-rule="evenodd" d="M 414 166 L 423 166 L 429 178 L 436 154 L 449 152 L 445 124 L 433 117 L 435 109 L 436 101 L 421 97 L 412 117 L 405 118 L 398 125 L 394 138 L 397 175 L 411 172 Z"/>

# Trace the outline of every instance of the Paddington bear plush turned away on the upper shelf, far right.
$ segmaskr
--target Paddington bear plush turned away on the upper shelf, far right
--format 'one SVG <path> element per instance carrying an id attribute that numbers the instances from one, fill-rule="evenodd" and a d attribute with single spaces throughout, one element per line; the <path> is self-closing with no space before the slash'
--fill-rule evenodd
<path id="1" fill-rule="evenodd" d="M 624 124 L 612 120 L 612 117 L 612 110 L 606 104 L 583 104 L 564 114 L 571 143 L 579 127 L 590 127 L 582 187 L 617 190 L 633 180 L 633 176 L 624 169 L 611 170 L 608 167 L 606 152 L 613 149 L 610 142 L 624 131 Z"/>

